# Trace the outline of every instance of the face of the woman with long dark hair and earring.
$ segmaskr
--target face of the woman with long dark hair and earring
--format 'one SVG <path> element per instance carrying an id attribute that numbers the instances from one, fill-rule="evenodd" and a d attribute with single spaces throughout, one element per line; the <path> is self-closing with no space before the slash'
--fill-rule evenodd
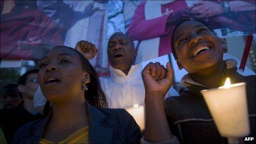
<path id="1" fill-rule="evenodd" d="M 78 54 L 67 47 L 56 47 L 40 60 L 39 83 L 51 103 L 84 102 L 81 88 L 86 72 Z M 72 97 L 71 97 L 72 96 Z M 82 97 L 81 97 L 82 96 Z"/>

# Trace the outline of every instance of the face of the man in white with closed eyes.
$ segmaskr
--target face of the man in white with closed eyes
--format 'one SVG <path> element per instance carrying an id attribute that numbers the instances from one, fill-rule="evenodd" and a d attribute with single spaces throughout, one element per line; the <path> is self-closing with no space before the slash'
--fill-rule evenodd
<path id="1" fill-rule="evenodd" d="M 111 36 L 108 41 L 108 59 L 112 67 L 124 72 L 134 65 L 136 56 L 134 42 L 129 36 L 123 33 L 115 33 Z"/>

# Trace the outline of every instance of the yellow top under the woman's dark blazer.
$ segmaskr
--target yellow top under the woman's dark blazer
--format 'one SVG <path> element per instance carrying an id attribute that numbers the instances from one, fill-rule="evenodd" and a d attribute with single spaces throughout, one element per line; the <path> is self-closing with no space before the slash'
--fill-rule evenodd
<path id="1" fill-rule="evenodd" d="M 54 143 L 52 141 L 42 138 L 39 143 Z M 72 135 L 65 138 L 65 140 L 58 143 L 89 143 L 89 126 L 77 130 Z"/>

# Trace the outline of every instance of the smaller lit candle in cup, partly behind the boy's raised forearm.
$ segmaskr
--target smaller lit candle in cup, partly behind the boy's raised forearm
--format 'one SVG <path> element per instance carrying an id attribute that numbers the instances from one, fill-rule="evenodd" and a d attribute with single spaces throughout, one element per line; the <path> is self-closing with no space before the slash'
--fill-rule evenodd
<path id="1" fill-rule="evenodd" d="M 141 131 L 145 130 L 145 115 L 144 115 L 144 106 L 138 104 L 135 104 L 134 107 L 132 108 L 127 108 L 126 109 L 129 114 L 134 117 L 135 121 L 137 122 L 138 126 L 140 126 Z"/>

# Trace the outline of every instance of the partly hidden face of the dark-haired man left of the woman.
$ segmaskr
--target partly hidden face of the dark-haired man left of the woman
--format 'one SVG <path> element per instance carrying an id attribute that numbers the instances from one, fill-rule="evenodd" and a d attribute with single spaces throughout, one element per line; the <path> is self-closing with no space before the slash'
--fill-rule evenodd
<path id="1" fill-rule="evenodd" d="M 38 73 L 30 73 L 26 77 L 25 84 L 19 84 L 19 92 L 28 99 L 33 99 L 36 89 L 38 89 Z"/>

